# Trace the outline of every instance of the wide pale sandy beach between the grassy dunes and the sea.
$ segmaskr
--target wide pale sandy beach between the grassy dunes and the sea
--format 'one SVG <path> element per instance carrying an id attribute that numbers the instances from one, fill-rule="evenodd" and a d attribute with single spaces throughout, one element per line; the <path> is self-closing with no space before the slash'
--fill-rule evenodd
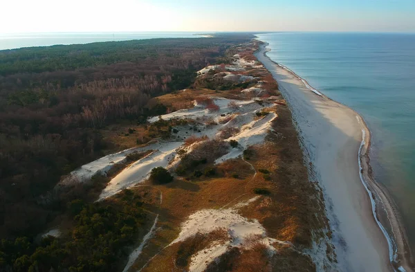
<path id="1" fill-rule="evenodd" d="M 340 269 L 393 271 L 387 240 L 360 181 L 362 124 L 356 113 L 307 89 L 306 82 L 264 56 L 264 48 L 257 57 L 279 83 L 324 190 Z"/>

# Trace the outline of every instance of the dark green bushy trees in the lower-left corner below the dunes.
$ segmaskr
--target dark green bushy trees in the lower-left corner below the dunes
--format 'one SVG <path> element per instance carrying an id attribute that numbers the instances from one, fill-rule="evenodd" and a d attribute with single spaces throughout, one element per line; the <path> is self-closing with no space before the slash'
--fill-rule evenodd
<path id="1" fill-rule="evenodd" d="M 75 208 L 72 233 L 55 239 L 46 237 L 36 244 L 25 237 L 0 243 L 1 270 L 12 271 L 117 271 L 127 258 L 131 246 L 146 220 L 140 197 L 131 191 L 121 192 L 114 201 Z M 80 209 L 81 208 L 81 209 Z M 53 269 L 53 270 L 52 270 Z"/>

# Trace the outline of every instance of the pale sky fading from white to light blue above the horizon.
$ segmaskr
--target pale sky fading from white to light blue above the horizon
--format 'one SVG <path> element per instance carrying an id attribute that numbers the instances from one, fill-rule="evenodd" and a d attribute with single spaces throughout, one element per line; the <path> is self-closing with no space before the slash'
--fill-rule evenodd
<path id="1" fill-rule="evenodd" d="M 0 33 L 415 32 L 415 0 L 2 0 Z"/>

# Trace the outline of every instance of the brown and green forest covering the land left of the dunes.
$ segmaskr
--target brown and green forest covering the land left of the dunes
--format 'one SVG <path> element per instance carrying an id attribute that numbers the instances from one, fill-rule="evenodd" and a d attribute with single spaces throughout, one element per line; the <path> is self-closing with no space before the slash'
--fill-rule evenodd
<path id="1" fill-rule="evenodd" d="M 90 204 L 93 188 L 62 193 L 55 185 L 105 150 L 117 151 L 100 129 L 163 114 L 165 107 L 149 105 L 151 98 L 190 87 L 196 71 L 250 38 L 227 34 L 0 51 L 0 271 L 113 271 L 112 259 L 99 254 L 120 254 L 126 243 L 120 237 L 136 233 L 143 213 L 126 219 L 105 203 Z M 73 237 L 77 229 L 91 237 L 64 244 L 46 239 L 33 249 L 50 221 L 71 214 L 73 201 L 82 201 L 73 216 Z M 98 233 L 88 223 L 92 219 L 98 220 Z M 98 245 L 102 252 L 97 256 L 84 255 L 91 239 L 102 235 L 113 235 L 117 242 Z M 40 265 L 42 257 L 50 264 Z"/>

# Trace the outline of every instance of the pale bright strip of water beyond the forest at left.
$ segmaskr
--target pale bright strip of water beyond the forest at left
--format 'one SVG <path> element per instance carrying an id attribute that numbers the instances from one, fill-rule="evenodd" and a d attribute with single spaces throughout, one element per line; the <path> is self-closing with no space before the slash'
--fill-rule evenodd
<path id="1" fill-rule="evenodd" d="M 190 32 L 131 33 L 0 33 L 0 50 L 55 44 L 88 44 L 91 42 L 128 41 L 130 39 L 200 37 Z"/>

